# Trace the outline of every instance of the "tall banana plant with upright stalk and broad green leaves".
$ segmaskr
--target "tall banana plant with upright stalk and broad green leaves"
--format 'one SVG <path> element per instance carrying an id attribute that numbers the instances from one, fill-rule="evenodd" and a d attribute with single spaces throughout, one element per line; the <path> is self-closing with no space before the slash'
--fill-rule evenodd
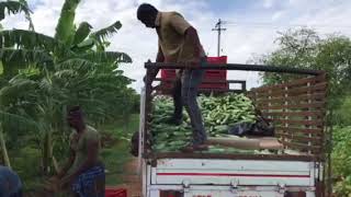
<path id="1" fill-rule="evenodd" d="M 115 116 L 117 112 L 111 111 L 111 106 L 117 105 L 120 97 L 127 99 L 126 93 L 132 92 L 126 88 L 131 80 L 116 70 L 120 62 L 131 62 L 132 59 L 124 53 L 105 50 L 107 36 L 116 33 L 122 24 L 117 21 L 106 28 L 91 32 L 92 26 L 82 22 L 76 28 L 73 20 L 79 2 L 65 1 L 54 37 L 25 30 L 0 31 L 2 79 L 12 79 L 14 83 L 26 80 L 36 85 L 34 90 L 24 90 L 33 97 L 8 96 L 5 93 L 2 97 L 11 99 L 11 104 L 4 106 L 21 108 L 23 116 L 31 117 L 44 130 L 44 173 L 48 173 L 53 158 L 53 134 L 65 125 L 66 106 L 82 105 L 88 117 L 104 119 L 106 114 Z M 2 89 L 14 88 L 5 82 Z M 19 114 L 19 111 L 14 112 Z"/>

